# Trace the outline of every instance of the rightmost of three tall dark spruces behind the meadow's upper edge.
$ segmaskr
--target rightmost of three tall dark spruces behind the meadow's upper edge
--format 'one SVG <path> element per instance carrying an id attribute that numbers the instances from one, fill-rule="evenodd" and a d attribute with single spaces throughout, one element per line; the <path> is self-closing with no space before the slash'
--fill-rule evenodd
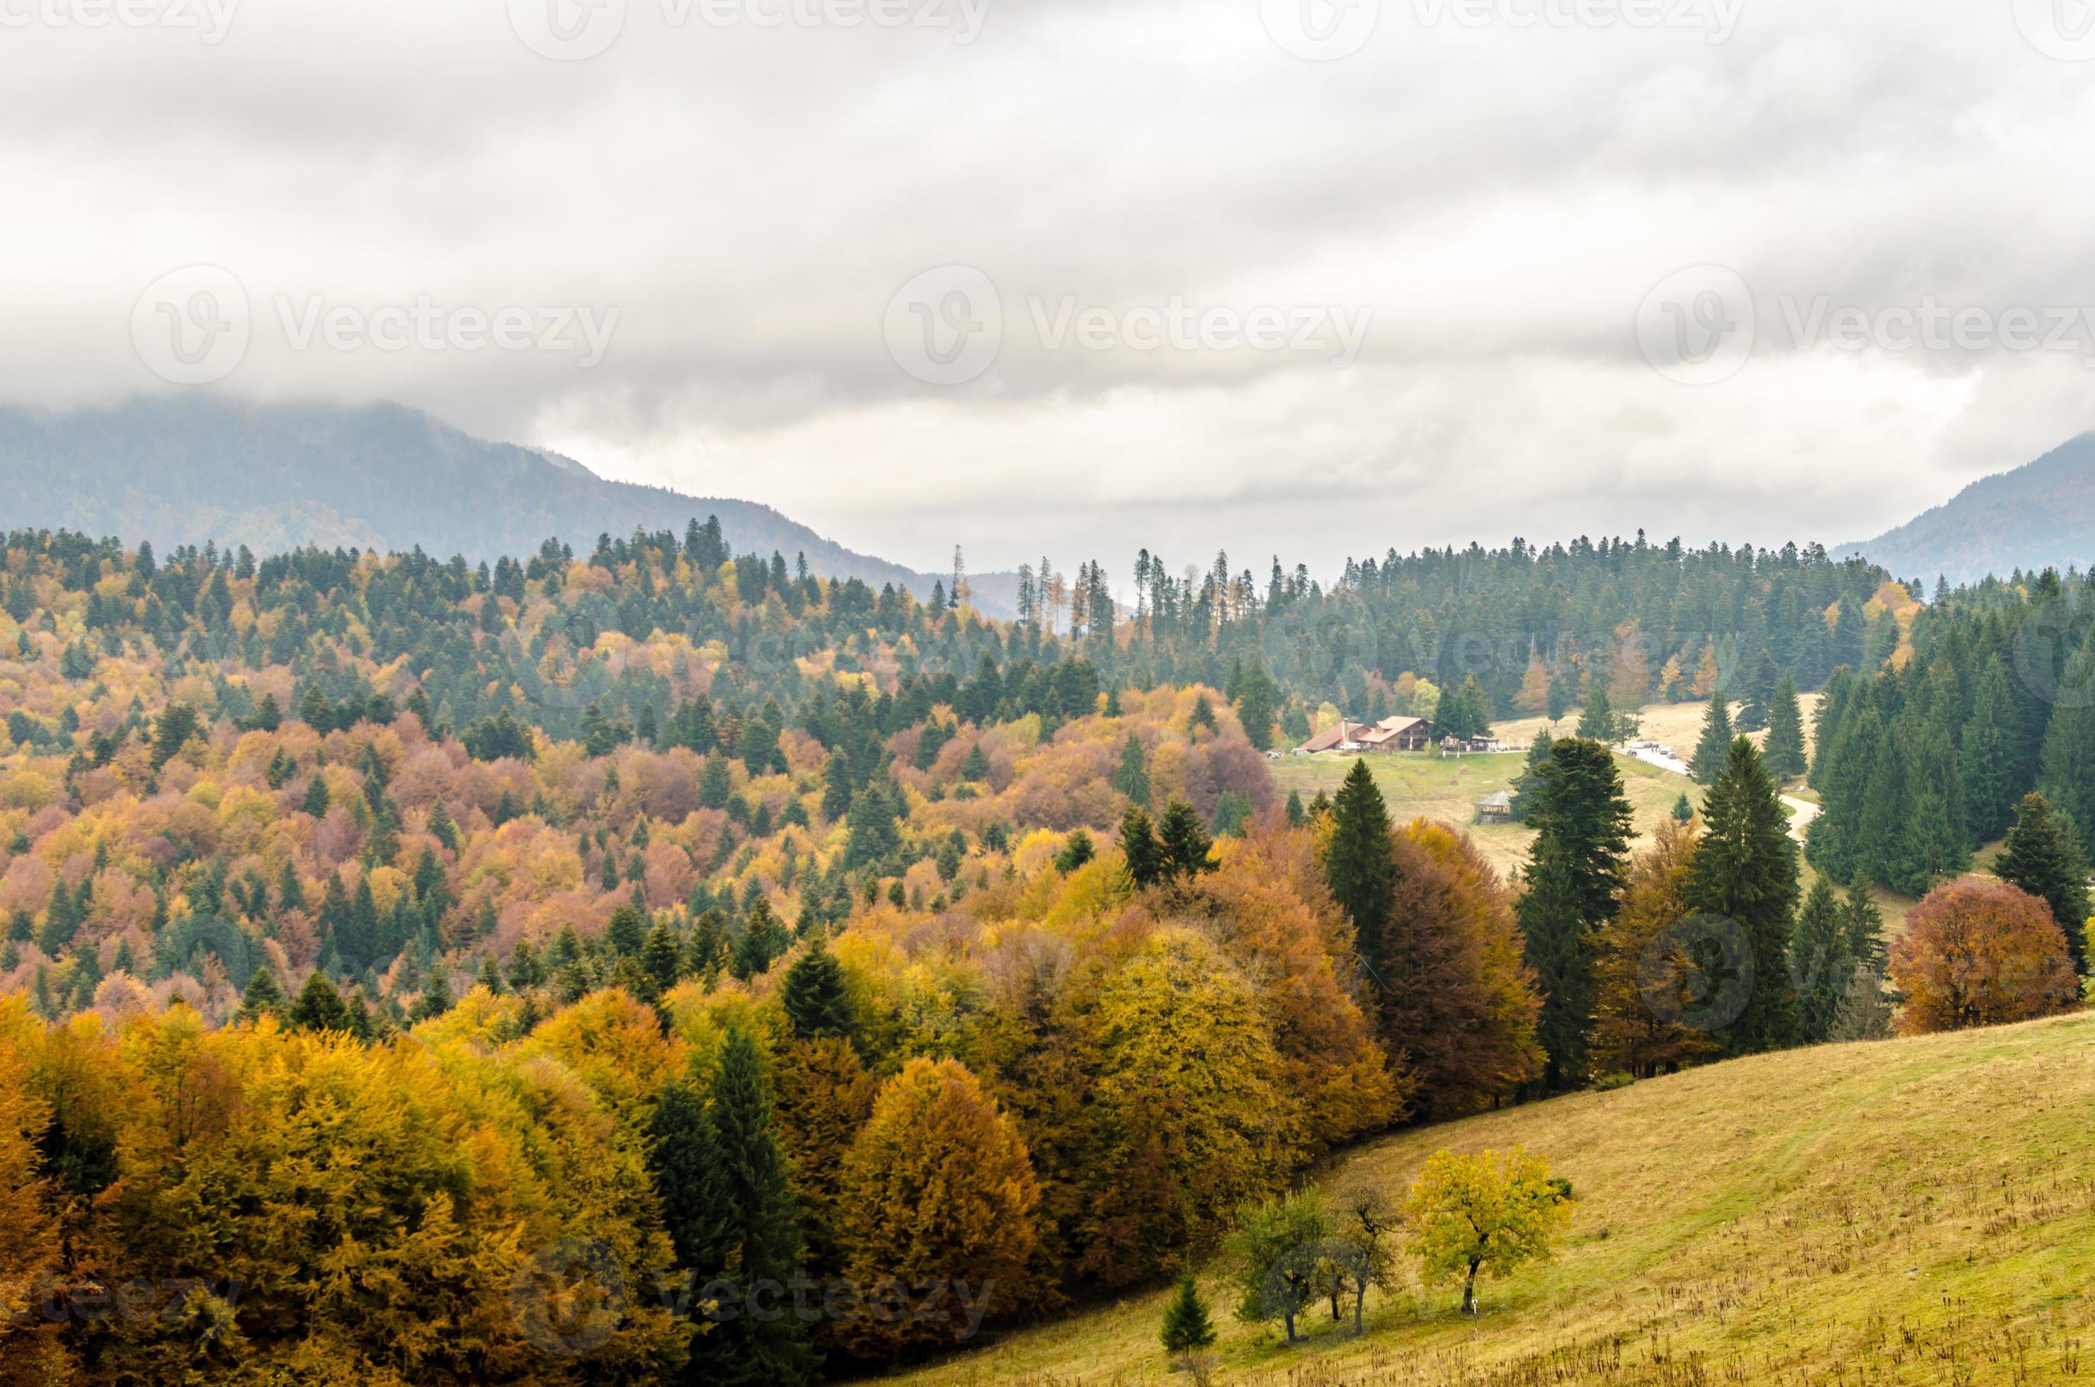
<path id="1" fill-rule="evenodd" d="M 1733 740 L 1701 817 L 1703 836 L 1682 895 L 1691 911 L 1745 930 L 1754 970 L 1724 1041 L 1733 1054 L 1774 1050 L 1789 1043 L 1795 1020 L 1787 955 L 1798 909 L 1798 846 L 1774 779 L 1745 737 Z"/>

